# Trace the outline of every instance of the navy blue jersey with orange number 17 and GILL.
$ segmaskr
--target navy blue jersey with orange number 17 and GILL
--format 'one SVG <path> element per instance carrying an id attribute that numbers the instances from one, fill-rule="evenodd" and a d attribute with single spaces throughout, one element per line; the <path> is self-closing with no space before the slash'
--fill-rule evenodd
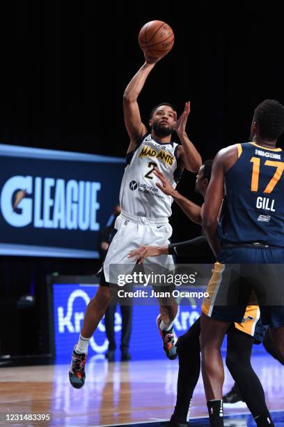
<path id="1" fill-rule="evenodd" d="M 284 246 L 284 154 L 254 142 L 237 144 L 239 158 L 225 176 L 219 237 L 237 244 Z"/>

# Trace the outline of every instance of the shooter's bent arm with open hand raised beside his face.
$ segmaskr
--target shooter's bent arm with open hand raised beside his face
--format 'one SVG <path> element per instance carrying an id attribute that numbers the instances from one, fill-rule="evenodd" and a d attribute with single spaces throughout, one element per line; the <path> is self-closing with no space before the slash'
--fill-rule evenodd
<path id="1" fill-rule="evenodd" d="M 187 118 L 189 117 L 190 112 L 190 102 L 185 103 L 184 112 L 182 115 L 177 117 L 177 113 L 174 112 L 174 129 L 180 138 L 182 145 L 178 147 L 178 161 L 180 169 L 184 167 L 190 172 L 198 172 L 200 166 L 202 165 L 202 158 L 194 144 L 189 140 L 187 136 L 186 127 L 187 127 Z"/>

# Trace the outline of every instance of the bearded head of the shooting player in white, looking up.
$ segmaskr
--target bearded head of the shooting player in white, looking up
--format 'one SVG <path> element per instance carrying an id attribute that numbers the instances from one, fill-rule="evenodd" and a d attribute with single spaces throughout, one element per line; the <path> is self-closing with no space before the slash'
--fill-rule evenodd
<path id="1" fill-rule="evenodd" d="M 152 109 L 149 124 L 157 137 L 165 137 L 173 133 L 174 112 L 175 108 L 170 103 L 160 103 Z"/>

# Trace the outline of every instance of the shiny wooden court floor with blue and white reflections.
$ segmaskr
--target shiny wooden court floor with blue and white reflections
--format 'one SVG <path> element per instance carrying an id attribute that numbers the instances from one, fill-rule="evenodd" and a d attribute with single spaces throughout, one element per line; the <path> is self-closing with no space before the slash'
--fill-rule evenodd
<path id="1" fill-rule="evenodd" d="M 269 410 L 284 410 L 284 368 L 269 356 L 253 358 L 265 387 Z M 130 361 L 109 364 L 89 359 L 86 384 L 73 389 L 68 365 L 0 369 L 1 425 L 6 413 L 50 414 L 49 426 L 109 426 L 169 419 L 175 405 L 178 361 Z M 224 391 L 232 386 L 226 372 Z M 201 380 L 194 394 L 193 417 L 207 414 Z M 225 413 L 247 412 L 244 408 Z M 284 421 L 284 420 L 283 420 Z M 42 425 L 34 422 L 13 425 Z"/>

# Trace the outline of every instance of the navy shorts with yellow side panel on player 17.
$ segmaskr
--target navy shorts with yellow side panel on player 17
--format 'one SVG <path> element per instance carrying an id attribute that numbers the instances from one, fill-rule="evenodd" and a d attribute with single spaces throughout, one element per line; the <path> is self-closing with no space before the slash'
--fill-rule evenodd
<path id="1" fill-rule="evenodd" d="M 282 327 L 283 277 L 284 248 L 222 248 L 207 285 L 209 297 L 203 300 L 202 311 L 215 320 L 235 322 L 237 329 L 250 335 L 254 335 L 260 315 L 263 325 Z"/>

